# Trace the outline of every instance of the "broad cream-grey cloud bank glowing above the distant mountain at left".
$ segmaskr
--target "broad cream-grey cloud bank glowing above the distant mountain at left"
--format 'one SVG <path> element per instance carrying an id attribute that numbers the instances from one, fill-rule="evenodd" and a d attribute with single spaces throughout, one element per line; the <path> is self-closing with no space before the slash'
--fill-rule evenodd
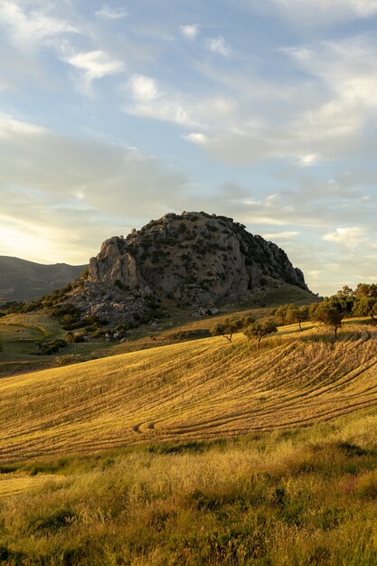
<path id="1" fill-rule="evenodd" d="M 0 253 L 24 257 L 28 241 L 30 259 L 84 263 L 109 236 L 187 208 L 184 175 L 135 149 L 12 117 L 0 131 Z"/>

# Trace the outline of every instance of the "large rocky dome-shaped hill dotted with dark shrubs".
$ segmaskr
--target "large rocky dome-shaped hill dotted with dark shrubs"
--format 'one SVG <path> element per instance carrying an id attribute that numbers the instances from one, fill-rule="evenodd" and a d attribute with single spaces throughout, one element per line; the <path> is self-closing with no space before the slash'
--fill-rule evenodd
<path id="1" fill-rule="evenodd" d="M 276 244 L 225 216 L 168 213 L 127 238 L 104 241 L 69 300 L 85 316 L 133 321 L 164 298 L 208 309 L 285 283 L 308 290 Z"/>

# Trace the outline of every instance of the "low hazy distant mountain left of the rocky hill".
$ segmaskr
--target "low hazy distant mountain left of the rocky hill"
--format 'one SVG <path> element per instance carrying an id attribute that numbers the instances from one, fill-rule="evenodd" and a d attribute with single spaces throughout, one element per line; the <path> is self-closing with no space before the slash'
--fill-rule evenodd
<path id="1" fill-rule="evenodd" d="M 42 265 L 25 259 L 0 256 L 0 300 L 31 300 L 78 278 L 85 265 Z"/>

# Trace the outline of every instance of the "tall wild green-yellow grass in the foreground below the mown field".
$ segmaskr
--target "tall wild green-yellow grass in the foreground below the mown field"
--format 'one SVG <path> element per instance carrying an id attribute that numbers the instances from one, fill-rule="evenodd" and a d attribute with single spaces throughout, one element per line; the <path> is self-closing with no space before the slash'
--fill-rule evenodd
<path id="1" fill-rule="evenodd" d="M 375 564 L 376 423 L 25 462 L 2 480 L 35 485 L 0 498 L 0 563 Z"/>

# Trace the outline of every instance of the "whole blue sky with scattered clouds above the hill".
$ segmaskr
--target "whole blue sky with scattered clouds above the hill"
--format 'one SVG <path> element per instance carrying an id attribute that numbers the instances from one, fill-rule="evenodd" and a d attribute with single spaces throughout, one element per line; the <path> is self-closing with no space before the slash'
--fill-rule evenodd
<path id="1" fill-rule="evenodd" d="M 377 0 L 0 0 L 0 255 L 224 214 L 377 281 Z"/>

